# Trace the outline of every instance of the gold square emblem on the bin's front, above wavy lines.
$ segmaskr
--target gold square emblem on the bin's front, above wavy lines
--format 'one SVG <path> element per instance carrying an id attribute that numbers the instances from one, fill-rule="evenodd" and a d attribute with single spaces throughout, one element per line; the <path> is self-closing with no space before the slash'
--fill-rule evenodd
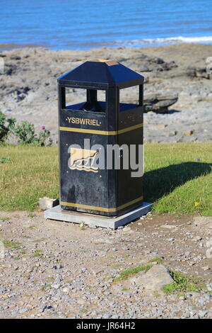
<path id="1" fill-rule="evenodd" d="M 79 171 L 98 172 L 98 167 L 94 166 L 98 158 L 98 150 L 71 148 L 70 169 Z"/>

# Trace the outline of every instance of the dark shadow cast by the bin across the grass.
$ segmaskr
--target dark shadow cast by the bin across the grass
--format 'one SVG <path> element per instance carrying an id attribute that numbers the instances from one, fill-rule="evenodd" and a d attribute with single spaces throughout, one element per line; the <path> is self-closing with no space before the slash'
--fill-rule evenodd
<path id="1" fill-rule="evenodd" d="M 177 186 L 212 170 L 212 164 L 184 162 L 148 171 L 143 175 L 144 200 L 154 202 L 172 192 Z"/>

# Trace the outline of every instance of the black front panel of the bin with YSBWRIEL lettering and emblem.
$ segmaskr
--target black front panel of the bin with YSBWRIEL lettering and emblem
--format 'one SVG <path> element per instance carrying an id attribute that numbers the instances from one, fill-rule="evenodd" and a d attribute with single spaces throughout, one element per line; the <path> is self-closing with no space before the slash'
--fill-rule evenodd
<path id="1" fill-rule="evenodd" d="M 85 125 L 87 119 L 92 121 Z M 105 122 L 105 113 L 71 109 L 60 112 L 60 203 L 63 209 L 117 215 L 117 171 L 90 167 L 98 147 L 103 148 L 106 161 L 107 145 L 114 145 L 117 140 L 117 135 L 108 135 Z M 84 145 L 86 139 L 89 147 Z M 73 163 L 75 160 L 77 163 Z"/>

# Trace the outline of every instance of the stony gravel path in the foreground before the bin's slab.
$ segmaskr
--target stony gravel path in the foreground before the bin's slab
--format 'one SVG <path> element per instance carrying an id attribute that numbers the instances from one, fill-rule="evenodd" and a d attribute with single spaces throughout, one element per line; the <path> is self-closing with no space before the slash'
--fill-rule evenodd
<path id="1" fill-rule="evenodd" d="M 1 318 L 212 318 L 212 218 L 148 214 L 112 231 L 45 220 L 42 212 L 0 217 Z M 155 256 L 203 278 L 206 290 L 165 295 L 133 278 L 113 281 Z"/>

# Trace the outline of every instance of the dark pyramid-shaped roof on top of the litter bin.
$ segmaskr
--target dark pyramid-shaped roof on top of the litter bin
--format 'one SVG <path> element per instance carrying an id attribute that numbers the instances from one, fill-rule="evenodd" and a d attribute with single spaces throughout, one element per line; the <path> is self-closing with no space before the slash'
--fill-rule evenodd
<path id="1" fill-rule="evenodd" d="M 59 77 L 59 84 L 93 88 L 128 88 L 143 84 L 142 75 L 114 60 L 88 60 Z"/>

